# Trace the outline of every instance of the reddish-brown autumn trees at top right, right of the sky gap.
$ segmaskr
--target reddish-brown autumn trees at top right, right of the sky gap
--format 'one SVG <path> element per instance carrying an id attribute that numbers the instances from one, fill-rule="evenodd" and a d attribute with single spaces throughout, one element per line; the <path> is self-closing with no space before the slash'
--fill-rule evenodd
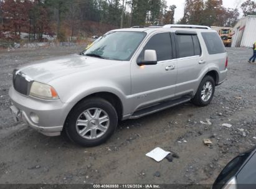
<path id="1" fill-rule="evenodd" d="M 239 19 L 239 9 L 225 8 L 222 0 L 186 0 L 180 24 L 233 27 Z M 247 0 L 240 6 L 244 15 L 256 14 L 256 2 Z"/>

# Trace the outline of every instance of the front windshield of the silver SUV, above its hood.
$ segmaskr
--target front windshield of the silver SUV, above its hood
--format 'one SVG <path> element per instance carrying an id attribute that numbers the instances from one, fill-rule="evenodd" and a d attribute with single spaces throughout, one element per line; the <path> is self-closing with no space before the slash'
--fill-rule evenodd
<path id="1" fill-rule="evenodd" d="M 83 51 L 82 55 L 109 60 L 130 60 L 145 36 L 145 32 L 109 32 Z"/>

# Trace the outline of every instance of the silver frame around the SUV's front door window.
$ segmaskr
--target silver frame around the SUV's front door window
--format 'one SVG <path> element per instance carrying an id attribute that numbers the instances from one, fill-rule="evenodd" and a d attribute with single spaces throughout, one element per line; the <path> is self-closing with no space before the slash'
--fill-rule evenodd
<path id="1" fill-rule="evenodd" d="M 138 58 L 140 57 L 141 52 L 143 52 L 144 48 L 146 47 L 146 44 L 148 44 L 149 40 L 151 40 L 151 38 L 154 37 L 154 35 L 157 35 L 157 34 L 169 34 L 170 35 L 170 40 L 171 40 L 171 48 L 172 48 L 171 59 L 169 59 L 169 60 L 161 60 L 161 61 L 158 61 L 158 63 L 169 62 L 169 61 L 174 60 L 176 58 L 174 56 L 174 52 L 176 53 L 176 50 L 174 49 L 175 41 L 174 41 L 174 39 L 172 37 L 172 32 L 170 32 L 170 31 L 169 32 L 159 31 L 159 32 L 154 32 L 152 35 L 149 35 L 148 39 L 146 39 L 145 42 L 143 42 L 142 50 L 138 53 L 138 57 L 136 58 L 136 62 L 138 62 Z"/>

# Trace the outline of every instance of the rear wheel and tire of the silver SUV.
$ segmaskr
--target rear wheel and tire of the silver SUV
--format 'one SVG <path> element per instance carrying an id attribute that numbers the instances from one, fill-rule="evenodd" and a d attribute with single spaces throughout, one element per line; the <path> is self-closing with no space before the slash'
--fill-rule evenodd
<path id="1" fill-rule="evenodd" d="M 209 84 L 209 86 L 208 86 Z M 204 90 L 206 89 L 206 90 Z M 207 90 L 208 89 L 208 90 Z M 202 94 L 204 91 L 204 94 Z M 211 93 L 211 96 L 209 96 Z M 194 98 L 191 99 L 192 103 L 196 106 L 207 106 L 211 103 L 212 98 L 214 97 L 215 93 L 215 81 L 212 76 L 206 75 L 197 90 L 196 95 Z M 205 95 L 205 96 L 204 96 Z"/>

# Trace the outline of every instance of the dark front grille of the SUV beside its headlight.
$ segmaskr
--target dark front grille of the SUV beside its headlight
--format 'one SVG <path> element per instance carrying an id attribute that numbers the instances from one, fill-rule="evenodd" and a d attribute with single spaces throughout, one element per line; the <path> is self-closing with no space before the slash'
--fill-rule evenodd
<path id="1" fill-rule="evenodd" d="M 32 80 L 28 79 L 24 73 L 18 70 L 13 71 L 12 82 L 14 89 L 21 94 L 29 95 Z"/>

